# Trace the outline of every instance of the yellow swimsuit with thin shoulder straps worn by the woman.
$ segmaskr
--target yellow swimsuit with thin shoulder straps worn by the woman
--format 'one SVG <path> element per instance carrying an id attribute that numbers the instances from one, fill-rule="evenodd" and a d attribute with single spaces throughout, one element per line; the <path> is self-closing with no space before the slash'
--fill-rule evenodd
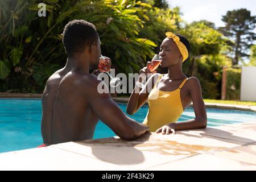
<path id="1" fill-rule="evenodd" d="M 183 113 L 180 89 L 188 79 L 185 78 L 176 90 L 165 92 L 157 88 L 162 76 L 159 76 L 148 95 L 148 113 L 143 123 L 150 127 L 151 132 L 155 132 L 168 123 L 176 122 Z"/>

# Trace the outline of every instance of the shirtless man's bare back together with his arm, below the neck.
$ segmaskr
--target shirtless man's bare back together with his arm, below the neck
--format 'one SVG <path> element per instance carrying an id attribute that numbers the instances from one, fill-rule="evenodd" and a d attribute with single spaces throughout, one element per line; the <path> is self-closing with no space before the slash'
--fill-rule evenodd
<path id="1" fill-rule="evenodd" d="M 100 82 L 90 73 L 65 68 L 49 78 L 42 97 L 44 144 L 92 139 L 98 119 L 123 139 L 137 138 L 148 130 L 127 117 L 109 93 L 98 93 Z"/>

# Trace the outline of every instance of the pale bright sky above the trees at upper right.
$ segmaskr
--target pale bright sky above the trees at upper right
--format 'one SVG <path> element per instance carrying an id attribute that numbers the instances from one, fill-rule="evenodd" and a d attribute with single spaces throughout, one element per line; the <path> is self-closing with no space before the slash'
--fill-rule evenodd
<path id="1" fill-rule="evenodd" d="M 191 23 L 205 19 L 215 23 L 216 27 L 224 26 L 222 15 L 227 11 L 246 8 L 251 15 L 256 15 L 255 0 L 167 0 L 171 7 L 181 7 L 182 18 Z M 256 31 L 256 30 L 255 30 Z"/>

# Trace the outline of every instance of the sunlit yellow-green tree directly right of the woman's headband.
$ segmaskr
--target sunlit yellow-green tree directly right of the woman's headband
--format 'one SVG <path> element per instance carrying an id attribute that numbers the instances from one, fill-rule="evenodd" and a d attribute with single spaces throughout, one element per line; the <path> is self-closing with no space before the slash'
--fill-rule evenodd
<path id="1" fill-rule="evenodd" d="M 187 24 L 180 34 L 191 44 L 183 72 L 199 78 L 204 98 L 220 98 L 222 65 L 231 65 L 231 60 L 225 55 L 228 45 L 224 35 L 203 22 Z"/>

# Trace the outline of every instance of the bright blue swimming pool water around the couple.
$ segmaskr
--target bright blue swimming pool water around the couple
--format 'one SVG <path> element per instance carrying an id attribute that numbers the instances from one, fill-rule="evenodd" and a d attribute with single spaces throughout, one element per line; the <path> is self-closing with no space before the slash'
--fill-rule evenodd
<path id="1" fill-rule="evenodd" d="M 126 104 L 118 104 L 123 111 Z M 130 117 L 143 122 L 148 107 L 143 106 Z M 208 126 L 256 121 L 256 113 L 238 110 L 207 109 Z M 34 148 L 43 143 L 41 137 L 41 100 L 0 99 L 0 152 Z M 192 108 L 181 115 L 179 121 L 194 118 Z M 94 138 L 113 137 L 115 134 L 101 121 L 96 126 Z"/>

